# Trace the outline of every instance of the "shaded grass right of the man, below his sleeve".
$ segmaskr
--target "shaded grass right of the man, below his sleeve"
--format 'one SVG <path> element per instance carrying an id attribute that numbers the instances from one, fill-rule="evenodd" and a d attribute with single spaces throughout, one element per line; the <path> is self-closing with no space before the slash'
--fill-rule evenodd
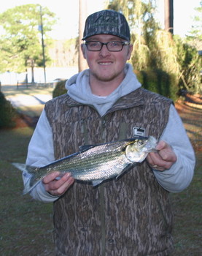
<path id="1" fill-rule="evenodd" d="M 174 244 L 175 255 L 199 256 L 201 247 L 201 152 L 196 154 L 197 165 L 190 186 L 181 193 L 171 194 L 174 208 Z"/>

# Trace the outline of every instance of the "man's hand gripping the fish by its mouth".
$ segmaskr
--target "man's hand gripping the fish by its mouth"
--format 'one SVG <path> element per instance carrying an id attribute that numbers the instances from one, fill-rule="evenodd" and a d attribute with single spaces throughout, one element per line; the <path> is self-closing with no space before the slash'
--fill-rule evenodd
<path id="1" fill-rule="evenodd" d="M 176 154 L 172 150 L 171 146 L 163 140 L 160 140 L 156 146 L 158 152 L 149 153 L 147 156 L 147 162 L 155 170 L 167 170 L 171 165 L 176 162 Z"/>

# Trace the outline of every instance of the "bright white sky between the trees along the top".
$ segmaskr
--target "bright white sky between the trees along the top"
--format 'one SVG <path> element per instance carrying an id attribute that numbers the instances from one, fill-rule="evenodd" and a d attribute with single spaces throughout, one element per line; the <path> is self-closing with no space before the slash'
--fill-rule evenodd
<path id="1" fill-rule="evenodd" d="M 104 9 L 104 0 L 82 0 L 88 4 L 88 12 L 96 12 Z M 187 31 L 193 24 L 193 17 L 195 15 L 195 7 L 200 7 L 201 0 L 174 0 L 174 34 L 179 34 L 184 37 Z M 159 12 L 158 17 L 163 24 L 163 2 L 164 0 L 157 0 Z M 78 20 L 79 20 L 79 0 L 6 0 L 1 1 L 0 12 L 4 12 L 9 8 L 23 4 L 41 4 L 46 6 L 52 12 L 55 12 L 56 17 L 59 18 L 57 25 L 54 26 L 51 36 L 54 39 L 69 39 L 77 37 L 78 34 Z"/>

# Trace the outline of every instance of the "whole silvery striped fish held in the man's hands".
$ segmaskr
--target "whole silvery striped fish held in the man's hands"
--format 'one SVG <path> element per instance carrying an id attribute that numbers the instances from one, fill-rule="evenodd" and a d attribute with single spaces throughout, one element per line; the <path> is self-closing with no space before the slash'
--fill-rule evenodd
<path id="1" fill-rule="evenodd" d="M 53 171 L 61 172 L 61 176 L 71 173 L 76 181 L 88 182 L 96 187 L 103 181 L 119 178 L 135 163 L 143 162 L 149 152 L 156 151 L 156 145 L 157 140 L 152 136 L 136 136 L 109 143 L 81 146 L 78 152 L 43 167 L 33 167 L 16 162 L 12 165 L 29 176 L 23 194 L 31 192 L 31 189 L 42 181 L 42 178 Z"/>

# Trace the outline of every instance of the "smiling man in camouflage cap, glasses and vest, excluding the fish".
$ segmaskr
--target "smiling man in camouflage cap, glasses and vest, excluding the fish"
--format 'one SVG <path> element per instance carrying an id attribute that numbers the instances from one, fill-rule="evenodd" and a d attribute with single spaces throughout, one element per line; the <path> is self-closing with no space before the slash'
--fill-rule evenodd
<path id="1" fill-rule="evenodd" d="M 133 46 L 125 17 L 103 10 L 85 23 L 82 53 L 89 69 L 66 83 L 68 93 L 47 102 L 26 164 L 47 165 L 79 146 L 152 135 L 158 153 L 118 180 L 93 188 L 55 171 L 31 191 L 54 202 L 55 254 L 169 255 L 173 217 L 169 192 L 193 178 L 195 157 L 170 99 L 141 88 L 126 64 Z M 24 174 L 24 182 L 28 176 Z"/>

